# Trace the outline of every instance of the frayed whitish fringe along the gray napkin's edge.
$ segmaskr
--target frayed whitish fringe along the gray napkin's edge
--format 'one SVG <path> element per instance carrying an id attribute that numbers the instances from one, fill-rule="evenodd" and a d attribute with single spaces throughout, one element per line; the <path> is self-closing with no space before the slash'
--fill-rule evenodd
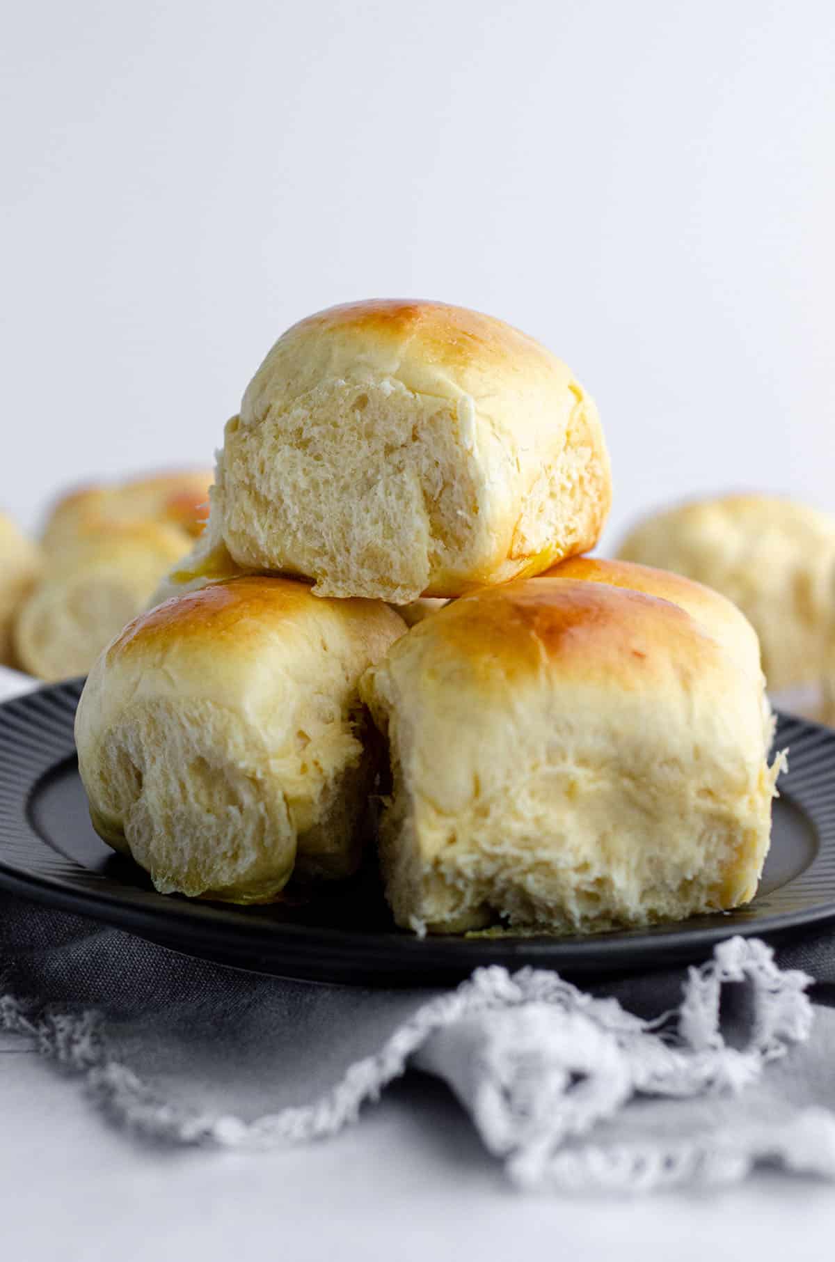
<path id="1" fill-rule="evenodd" d="M 733 938 L 711 962 L 689 970 L 677 1012 L 647 1022 L 556 973 L 478 969 L 457 991 L 420 1007 L 322 1099 L 254 1122 L 161 1099 L 108 1055 L 96 1013 L 35 1015 L 5 997 L 0 1029 L 33 1037 L 42 1053 L 85 1075 L 107 1113 L 156 1140 L 267 1148 L 322 1138 L 356 1121 L 411 1063 L 449 1083 L 518 1186 L 639 1191 L 729 1182 L 761 1161 L 835 1176 L 835 1116 L 825 1111 L 665 1145 L 604 1146 L 593 1135 L 636 1097 L 686 1098 L 749 1085 L 767 1061 L 809 1037 L 810 981 L 781 972 L 763 943 Z M 750 1034 L 742 1047 L 721 1036 L 728 982 L 745 982 L 750 994 Z"/>

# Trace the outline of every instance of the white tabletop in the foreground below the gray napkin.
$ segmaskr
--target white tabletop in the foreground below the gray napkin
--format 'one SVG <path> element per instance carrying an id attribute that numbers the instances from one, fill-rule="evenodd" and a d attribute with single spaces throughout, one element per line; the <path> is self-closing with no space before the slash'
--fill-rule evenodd
<path id="1" fill-rule="evenodd" d="M 76 1080 L 8 1036 L 0 1203 L 15 1262 L 822 1262 L 835 1241 L 831 1185 L 780 1175 L 637 1200 L 520 1195 L 445 1089 L 419 1075 L 325 1143 L 160 1152 L 114 1131 Z"/>

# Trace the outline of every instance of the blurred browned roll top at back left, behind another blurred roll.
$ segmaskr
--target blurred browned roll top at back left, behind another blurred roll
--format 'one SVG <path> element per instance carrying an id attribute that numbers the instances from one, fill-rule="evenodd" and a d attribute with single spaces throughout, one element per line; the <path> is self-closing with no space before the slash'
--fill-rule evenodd
<path id="1" fill-rule="evenodd" d="M 112 521 L 158 521 L 194 539 L 208 516 L 211 482 L 212 475 L 204 469 L 180 469 L 71 491 L 58 500 L 47 519 L 43 548 L 54 551 L 76 535 L 97 526 L 106 529 Z"/>

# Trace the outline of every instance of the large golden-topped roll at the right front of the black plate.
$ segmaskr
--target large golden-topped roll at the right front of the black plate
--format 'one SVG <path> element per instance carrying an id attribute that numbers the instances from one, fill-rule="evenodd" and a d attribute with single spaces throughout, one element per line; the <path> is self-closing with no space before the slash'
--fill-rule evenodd
<path id="1" fill-rule="evenodd" d="M 390 746 L 397 924 L 587 933 L 753 896 L 781 761 L 762 678 L 680 606 L 569 578 L 484 588 L 359 690 Z"/>

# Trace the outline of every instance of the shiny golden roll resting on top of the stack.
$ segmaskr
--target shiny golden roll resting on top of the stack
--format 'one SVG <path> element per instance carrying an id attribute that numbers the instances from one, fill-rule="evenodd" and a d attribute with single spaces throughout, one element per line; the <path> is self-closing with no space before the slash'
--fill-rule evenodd
<path id="1" fill-rule="evenodd" d="M 592 548 L 609 500 L 564 363 L 488 316 L 376 300 L 279 338 L 226 427 L 212 516 L 245 568 L 406 604 Z"/>

